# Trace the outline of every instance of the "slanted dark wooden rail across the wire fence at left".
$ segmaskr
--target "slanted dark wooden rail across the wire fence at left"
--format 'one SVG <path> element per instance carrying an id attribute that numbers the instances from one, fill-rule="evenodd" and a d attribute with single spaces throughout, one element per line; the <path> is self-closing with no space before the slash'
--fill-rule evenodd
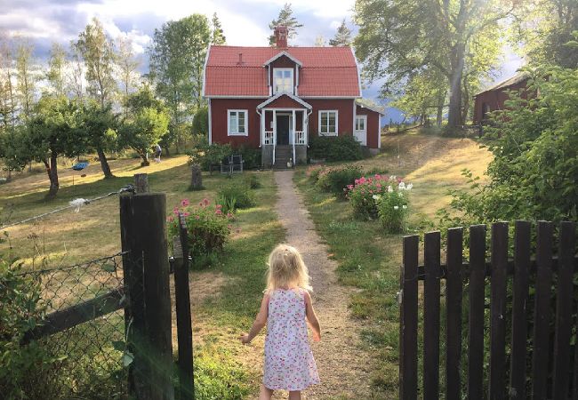
<path id="1" fill-rule="evenodd" d="M 23 343 L 66 331 L 76 325 L 84 324 L 92 319 L 115 312 L 117 309 L 123 308 L 121 304 L 123 296 L 123 288 L 118 288 L 106 294 L 101 294 L 94 299 L 55 311 L 45 316 L 44 320 L 35 329 L 27 332 Z"/>

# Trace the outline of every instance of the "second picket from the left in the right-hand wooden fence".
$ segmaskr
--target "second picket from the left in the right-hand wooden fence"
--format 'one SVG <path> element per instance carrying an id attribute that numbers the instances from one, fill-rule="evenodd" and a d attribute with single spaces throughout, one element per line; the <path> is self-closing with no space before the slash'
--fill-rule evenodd
<path id="1" fill-rule="evenodd" d="M 439 398 L 439 232 L 424 237 L 423 284 L 423 399 Z"/>

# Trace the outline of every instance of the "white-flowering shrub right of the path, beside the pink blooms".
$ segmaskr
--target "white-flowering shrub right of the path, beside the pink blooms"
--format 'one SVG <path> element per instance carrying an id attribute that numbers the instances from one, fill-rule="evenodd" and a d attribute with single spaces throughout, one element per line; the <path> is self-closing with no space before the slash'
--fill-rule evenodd
<path id="1" fill-rule="evenodd" d="M 399 233 L 404 230 L 405 219 L 407 218 L 408 199 L 406 190 L 410 190 L 412 185 L 405 186 L 404 182 L 399 182 L 386 193 L 373 195 L 377 202 L 377 213 L 380 217 L 381 225 L 388 233 Z"/>

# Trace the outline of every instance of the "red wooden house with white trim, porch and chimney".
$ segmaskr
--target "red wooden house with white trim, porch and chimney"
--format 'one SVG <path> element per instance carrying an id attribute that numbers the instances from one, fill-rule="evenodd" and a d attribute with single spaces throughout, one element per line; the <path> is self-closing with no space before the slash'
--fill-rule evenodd
<path id="1" fill-rule="evenodd" d="M 264 166 L 307 161 L 312 136 L 355 135 L 377 152 L 382 111 L 361 105 L 359 68 L 347 47 L 209 47 L 203 95 L 209 142 L 261 148 Z"/>

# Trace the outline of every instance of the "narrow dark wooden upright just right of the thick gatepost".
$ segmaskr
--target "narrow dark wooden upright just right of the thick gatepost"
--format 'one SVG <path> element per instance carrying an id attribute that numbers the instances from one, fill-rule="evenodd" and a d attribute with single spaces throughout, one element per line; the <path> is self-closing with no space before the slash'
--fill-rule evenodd
<path id="1" fill-rule="evenodd" d="M 189 242 L 187 225 L 179 215 L 179 236 L 173 238 L 174 292 L 177 308 L 177 339 L 179 340 L 179 393 L 181 400 L 195 398 L 193 376 L 193 331 L 189 294 Z"/>

